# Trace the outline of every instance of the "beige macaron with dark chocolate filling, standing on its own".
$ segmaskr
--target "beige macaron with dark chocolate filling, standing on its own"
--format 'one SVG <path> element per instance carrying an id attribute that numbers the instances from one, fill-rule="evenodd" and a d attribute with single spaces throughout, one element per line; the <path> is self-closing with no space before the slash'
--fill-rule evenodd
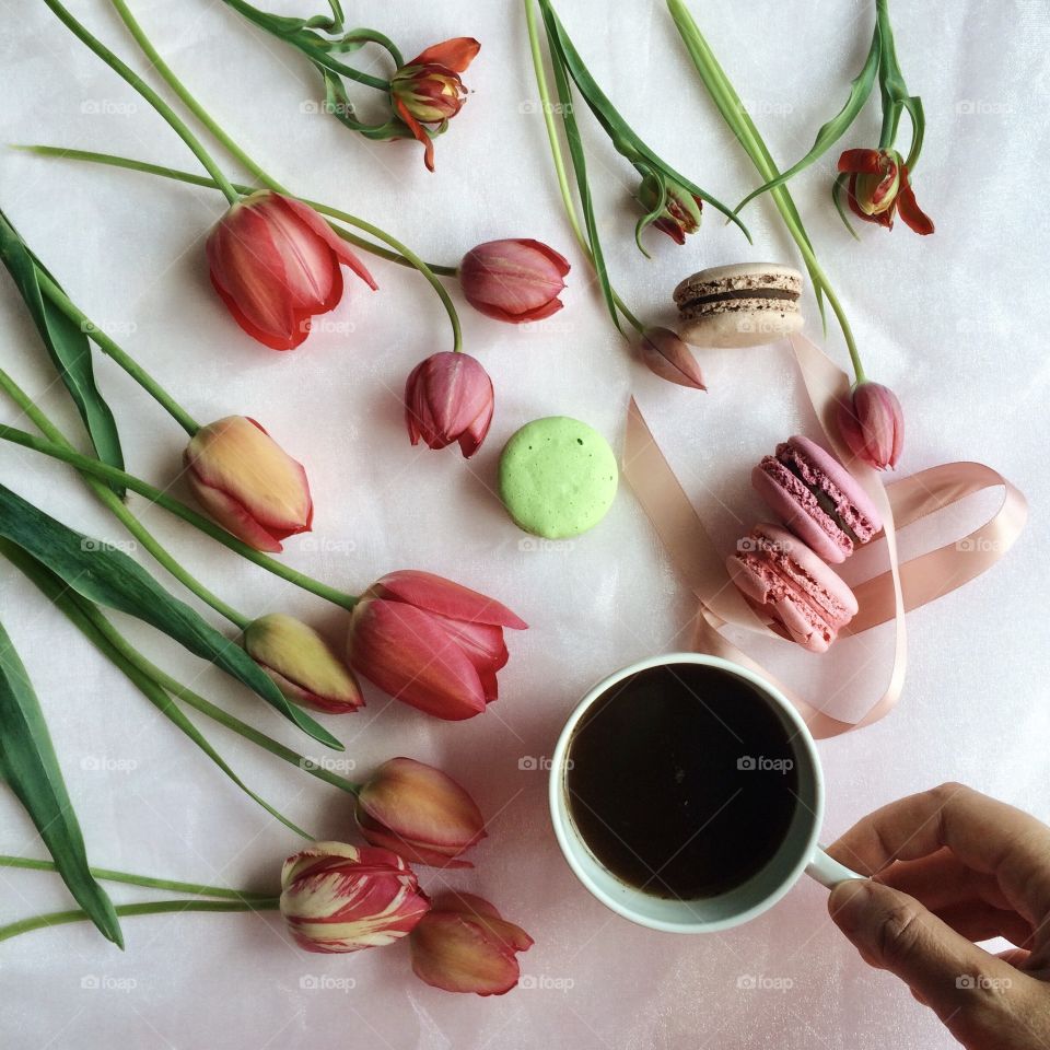
<path id="1" fill-rule="evenodd" d="M 679 336 L 695 347 L 758 347 L 801 330 L 802 275 L 778 262 L 700 270 L 675 289 Z"/>

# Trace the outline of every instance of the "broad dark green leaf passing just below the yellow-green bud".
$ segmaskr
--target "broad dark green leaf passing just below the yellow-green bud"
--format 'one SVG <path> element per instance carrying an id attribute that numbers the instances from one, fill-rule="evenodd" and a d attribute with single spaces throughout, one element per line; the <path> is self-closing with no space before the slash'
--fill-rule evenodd
<path id="1" fill-rule="evenodd" d="M 122 551 L 69 528 L 2 485 L 0 536 L 43 562 L 68 587 L 90 602 L 150 623 L 195 655 L 243 681 L 315 740 L 336 750 L 343 749 L 324 726 L 291 703 L 240 645 L 168 594 Z"/>

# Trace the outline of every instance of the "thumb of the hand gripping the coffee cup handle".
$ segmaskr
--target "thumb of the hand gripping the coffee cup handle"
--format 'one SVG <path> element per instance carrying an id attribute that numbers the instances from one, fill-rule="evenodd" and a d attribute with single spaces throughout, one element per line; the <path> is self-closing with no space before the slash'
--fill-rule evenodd
<path id="1" fill-rule="evenodd" d="M 913 897 L 880 883 L 849 879 L 831 891 L 828 911 L 866 962 L 899 977 L 943 1022 L 993 1024 L 1008 1012 L 1004 992 L 1017 971 Z"/>

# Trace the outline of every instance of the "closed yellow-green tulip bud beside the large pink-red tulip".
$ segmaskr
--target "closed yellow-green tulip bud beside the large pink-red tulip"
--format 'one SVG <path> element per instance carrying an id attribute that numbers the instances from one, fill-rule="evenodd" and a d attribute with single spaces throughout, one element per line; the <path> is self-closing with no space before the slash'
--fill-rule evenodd
<path id="1" fill-rule="evenodd" d="M 302 620 L 283 612 L 260 616 L 245 629 L 244 648 L 281 692 L 303 707 L 342 714 L 364 704 L 353 673 Z"/>

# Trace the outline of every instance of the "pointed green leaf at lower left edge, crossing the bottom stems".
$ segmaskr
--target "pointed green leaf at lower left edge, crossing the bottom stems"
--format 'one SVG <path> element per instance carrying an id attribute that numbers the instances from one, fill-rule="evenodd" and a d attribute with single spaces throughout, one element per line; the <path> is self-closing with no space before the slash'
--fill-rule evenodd
<path id="1" fill-rule="evenodd" d="M 84 837 L 25 666 L 0 623 L 0 774 L 55 859 L 62 880 L 100 933 L 124 947 L 120 922 L 88 868 Z"/>

